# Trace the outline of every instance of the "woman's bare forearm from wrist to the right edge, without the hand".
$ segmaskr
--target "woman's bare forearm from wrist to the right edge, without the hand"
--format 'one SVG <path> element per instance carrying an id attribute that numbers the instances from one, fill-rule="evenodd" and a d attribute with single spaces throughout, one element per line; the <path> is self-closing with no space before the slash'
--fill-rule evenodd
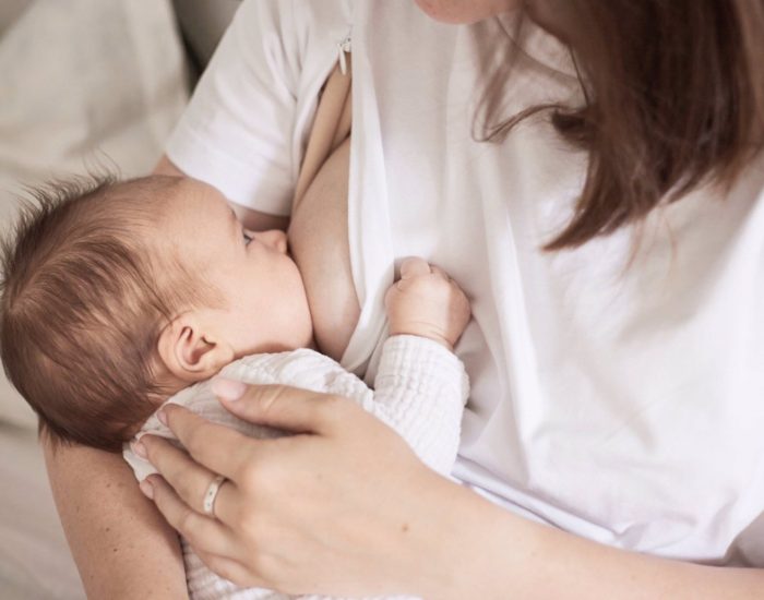
<path id="1" fill-rule="evenodd" d="M 702 566 L 609 548 L 443 484 L 451 489 L 441 492 L 449 508 L 440 529 L 450 532 L 449 541 L 440 538 L 433 545 L 455 576 L 445 580 L 447 589 L 422 587 L 427 598 L 764 598 L 764 569 Z"/>

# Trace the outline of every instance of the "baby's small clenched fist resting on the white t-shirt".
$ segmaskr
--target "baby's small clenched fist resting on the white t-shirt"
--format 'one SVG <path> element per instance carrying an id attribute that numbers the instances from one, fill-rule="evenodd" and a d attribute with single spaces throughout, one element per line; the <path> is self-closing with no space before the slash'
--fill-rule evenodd
<path id="1" fill-rule="evenodd" d="M 469 321 L 469 301 L 462 289 L 437 266 L 406 259 L 401 279 L 384 297 L 390 335 L 418 335 L 453 349 Z"/>

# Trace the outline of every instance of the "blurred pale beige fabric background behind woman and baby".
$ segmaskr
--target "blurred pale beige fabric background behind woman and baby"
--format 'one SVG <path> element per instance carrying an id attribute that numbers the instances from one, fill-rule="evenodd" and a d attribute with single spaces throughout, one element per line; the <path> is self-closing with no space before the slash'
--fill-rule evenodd
<path id="1" fill-rule="evenodd" d="M 148 173 L 239 0 L 1 0 L 0 232 L 25 185 Z M 0 598 L 84 598 L 36 419 L 0 376 Z"/>

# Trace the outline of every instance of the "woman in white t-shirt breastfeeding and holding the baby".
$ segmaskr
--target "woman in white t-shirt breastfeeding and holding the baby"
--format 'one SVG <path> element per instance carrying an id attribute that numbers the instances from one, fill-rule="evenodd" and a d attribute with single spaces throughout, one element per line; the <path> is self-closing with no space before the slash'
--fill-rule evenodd
<path id="1" fill-rule="evenodd" d="M 349 39 L 355 133 L 293 251 L 320 346 L 360 372 L 395 261 L 463 285 L 462 484 L 343 398 L 230 384 L 232 412 L 300 434 L 167 410 L 193 459 L 144 439 L 165 477 L 144 493 L 212 568 L 291 593 L 761 597 L 739 567 L 764 566 L 764 2 L 418 4 L 244 3 L 158 170 L 286 227 Z M 184 593 L 118 459 L 47 457 L 93 597 Z"/>

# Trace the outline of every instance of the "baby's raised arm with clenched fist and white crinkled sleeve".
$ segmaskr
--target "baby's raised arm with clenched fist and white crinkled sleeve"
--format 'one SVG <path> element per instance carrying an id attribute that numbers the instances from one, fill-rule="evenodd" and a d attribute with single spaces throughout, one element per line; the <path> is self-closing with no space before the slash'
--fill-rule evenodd
<path id="1" fill-rule="evenodd" d="M 469 394 L 462 361 L 451 351 L 469 321 L 469 302 L 438 267 L 408 259 L 387 291 L 391 338 L 365 408 L 395 429 L 434 470 L 447 475 L 458 449 Z"/>

